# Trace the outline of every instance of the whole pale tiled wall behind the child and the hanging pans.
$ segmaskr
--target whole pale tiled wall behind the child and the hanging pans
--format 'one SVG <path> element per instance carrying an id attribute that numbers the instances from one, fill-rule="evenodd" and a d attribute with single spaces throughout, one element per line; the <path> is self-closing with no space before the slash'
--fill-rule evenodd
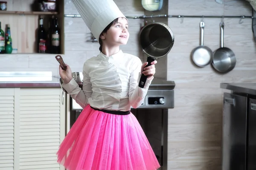
<path id="1" fill-rule="evenodd" d="M 251 15 L 245 0 L 169 0 L 172 15 Z M 144 14 L 140 0 L 115 0 L 126 16 Z M 78 14 L 70 0 L 65 0 L 65 14 Z M 189 58 L 199 45 L 201 18 L 169 18 L 175 34 L 175 44 L 168 55 L 157 63 L 156 77 L 166 72 L 176 83 L 175 108 L 169 110 L 168 170 L 220 170 L 221 167 L 221 82 L 256 81 L 256 43 L 253 41 L 251 19 L 225 18 L 224 46 L 236 54 L 236 67 L 221 75 L 210 65 L 195 67 Z M 214 51 L 219 48 L 220 18 L 204 18 L 204 45 Z M 129 19 L 130 39 L 122 46 L 124 52 L 139 56 L 140 19 Z M 83 62 L 99 53 L 98 42 L 87 42 L 90 31 L 81 18 L 65 17 L 65 55 L 72 71 L 81 71 Z M 54 56 L 53 56 L 54 57 Z M 1 55 L 0 71 L 52 71 L 58 76 L 58 63 L 52 55 Z"/>

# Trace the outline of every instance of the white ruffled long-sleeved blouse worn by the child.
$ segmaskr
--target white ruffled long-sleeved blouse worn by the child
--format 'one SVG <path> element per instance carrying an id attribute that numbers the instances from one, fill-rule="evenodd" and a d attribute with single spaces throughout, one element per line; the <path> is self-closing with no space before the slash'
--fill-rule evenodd
<path id="1" fill-rule="evenodd" d="M 83 89 L 74 79 L 63 83 L 63 88 L 73 99 L 85 108 L 130 111 L 131 106 L 138 108 L 147 94 L 152 80 L 147 79 L 144 88 L 140 81 L 141 60 L 120 50 L 112 56 L 100 53 L 84 62 Z"/>

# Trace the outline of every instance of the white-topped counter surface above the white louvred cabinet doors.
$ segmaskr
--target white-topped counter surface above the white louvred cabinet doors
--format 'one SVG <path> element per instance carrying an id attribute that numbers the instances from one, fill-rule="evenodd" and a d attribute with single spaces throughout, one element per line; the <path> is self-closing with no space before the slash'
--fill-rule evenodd
<path id="1" fill-rule="evenodd" d="M 0 72 L 0 88 L 61 87 L 52 72 Z"/>

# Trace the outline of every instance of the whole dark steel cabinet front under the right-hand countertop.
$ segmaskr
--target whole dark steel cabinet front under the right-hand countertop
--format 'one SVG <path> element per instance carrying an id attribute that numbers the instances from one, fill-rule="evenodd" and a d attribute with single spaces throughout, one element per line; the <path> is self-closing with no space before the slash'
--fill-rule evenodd
<path id="1" fill-rule="evenodd" d="M 256 170 L 256 95 L 224 93 L 222 170 Z"/>

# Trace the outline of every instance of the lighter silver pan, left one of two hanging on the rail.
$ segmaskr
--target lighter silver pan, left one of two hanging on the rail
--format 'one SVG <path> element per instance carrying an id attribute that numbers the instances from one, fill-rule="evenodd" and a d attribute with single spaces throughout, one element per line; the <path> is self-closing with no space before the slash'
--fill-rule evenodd
<path id="1" fill-rule="evenodd" d="M 200 46 L 194 48 L 191 52 L 191 57 L 195 65 L 204 67 L 212 62 L 213 53 L 212 50 L 204 45 L 204 22 L 200 22 L 201 40 Z"/>

